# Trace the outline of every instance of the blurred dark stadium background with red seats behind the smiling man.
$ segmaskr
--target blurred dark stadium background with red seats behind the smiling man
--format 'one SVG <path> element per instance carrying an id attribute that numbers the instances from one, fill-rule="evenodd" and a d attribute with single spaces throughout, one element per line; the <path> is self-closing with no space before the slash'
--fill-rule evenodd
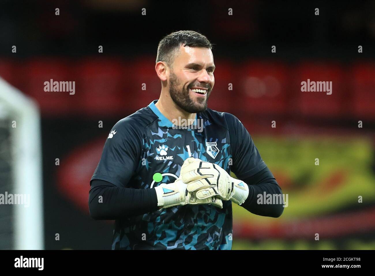
<path id="1" fill-rule="evenodd" d="M 45 249 L 111 248 L 89 181 L 115 122 L 159 97 L 157 44 L 176 30 L 214 44 L 208 107 L 245 124 L 289 195 L 277 219 L 234 208 L 233 249 L 375 249 L 373 1 L 2 1 L 0 76 L 42 115 Z M 75 95 L 44 92 L 51 78 Z M 308 78 L 333 81 L 332 95 L 301 92 Z"/>

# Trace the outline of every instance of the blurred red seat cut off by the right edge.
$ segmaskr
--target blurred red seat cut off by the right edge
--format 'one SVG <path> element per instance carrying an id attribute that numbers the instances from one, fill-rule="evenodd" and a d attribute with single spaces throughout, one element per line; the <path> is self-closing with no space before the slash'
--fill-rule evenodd
<path id="1" fill-rule="evenodd" d="M 353 81 L 353 115 L 375 119 L 375 63 L 356 64 L 351 71 Z"/>

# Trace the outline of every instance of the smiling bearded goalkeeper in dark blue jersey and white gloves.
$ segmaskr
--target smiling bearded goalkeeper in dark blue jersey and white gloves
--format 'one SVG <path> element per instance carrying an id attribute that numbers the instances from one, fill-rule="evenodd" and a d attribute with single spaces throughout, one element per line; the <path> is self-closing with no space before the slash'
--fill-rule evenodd
<path id="1" fill-rule="evenodd" d="M 260 216 L 283 212 L 282 202 L 257 204 L 257 195 L 282 192 L 246 128 L 207 108 L 211 48 L 194 31 L 165 36 L 159 100 L 118 121 L 105 142 L 89 208 L 94 219 L 115 220 L 112 249 L 231 249 L 232 202 Z M 181 121 L 193 124 L 172 123 Z"/>

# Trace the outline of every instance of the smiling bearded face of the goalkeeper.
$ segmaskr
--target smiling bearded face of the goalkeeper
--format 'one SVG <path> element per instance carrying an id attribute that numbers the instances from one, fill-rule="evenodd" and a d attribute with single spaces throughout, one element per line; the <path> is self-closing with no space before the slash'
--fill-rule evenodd
<path id="1" fill-rule="evenodd" d="M 175 104 L 189 113 L 206 110 L 215 83 L 214 69 L 210 49 L 182 45 L 169 76 L 169 94 Z"/>

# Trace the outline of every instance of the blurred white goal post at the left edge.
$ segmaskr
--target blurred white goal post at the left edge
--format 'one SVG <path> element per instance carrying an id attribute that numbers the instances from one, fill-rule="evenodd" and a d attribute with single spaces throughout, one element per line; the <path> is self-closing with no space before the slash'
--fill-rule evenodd
<path id="1" fill-rule="evenodd" d="M 10 145 L 8 154 L 4 156 L 11 157 L 9 179 L 12 185 L 6 186 L 7 183 L 3 183 L 3 190 L 4 187 L 10 187 L 12 191 L 7 193 L 30 195 L 28 207 L 25 204 L 14 204 L 16 202 L 9 209 L 0 205 L 3 210 L 12 210 L 12 217 L 9 219 L 12 225 L 9 228 L 1 227 L 11 234 L 1 235 L 0 232 L 0 239 L 10 236 L 13 238 L 12 242 L 4 243 L 12 247 L 6 249 L 41 250 L 44 249 L 44 224 L 39 109 L 33 100 L 1 77 L 0 120 L 6 122 L 4 132 Z"/>

